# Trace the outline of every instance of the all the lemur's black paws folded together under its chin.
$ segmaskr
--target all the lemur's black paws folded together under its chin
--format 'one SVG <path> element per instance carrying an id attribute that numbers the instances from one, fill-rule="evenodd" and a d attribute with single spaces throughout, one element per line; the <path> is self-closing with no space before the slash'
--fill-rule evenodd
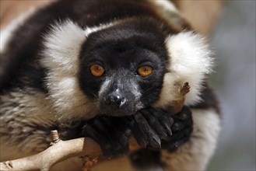
<path id="1" fill-rule="evenodd" d="M 175 115 L 149 107 L 132 116 L 100 116 L 88 120 L 82 136 L 93 138 L 103 155 L 112 157 L 128 152 L 131 134 L 141 146 L 174 150 L 188 141 L 191 131 L 191 111 L 187 106 Z"/>

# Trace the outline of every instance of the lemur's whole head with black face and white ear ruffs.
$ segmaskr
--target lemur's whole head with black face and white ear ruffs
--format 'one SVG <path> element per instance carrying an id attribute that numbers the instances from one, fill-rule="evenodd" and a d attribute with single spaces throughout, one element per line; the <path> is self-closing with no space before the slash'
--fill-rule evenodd
<path id="1" fill-rule="evenodd" d="M 205 41 L 191 32 L 167 33 L 153 19 L 124 19 L 83 29 L 57 23 L 45 35 L 43 59 L 53 109 L 63 117 L 124 116 L 165 107 L 184 82 L 196 103 L 211 70 Z"/>

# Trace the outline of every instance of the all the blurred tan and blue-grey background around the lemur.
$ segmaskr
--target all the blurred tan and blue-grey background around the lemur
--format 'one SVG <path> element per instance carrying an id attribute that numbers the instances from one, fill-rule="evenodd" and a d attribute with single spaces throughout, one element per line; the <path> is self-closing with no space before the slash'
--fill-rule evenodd
<path id="1" fill-rule="evenodd" d="M 0 28 L 47 2 L 51 0 L 0 0 Z M 255 1 L 174 2 L 191 26 L 209 37 L 216 53 L 211 82 L 219 96 L 223 131 L 208 170 L 255 170 Z M 121 160 L 115 166 L 125 167 Z"/>

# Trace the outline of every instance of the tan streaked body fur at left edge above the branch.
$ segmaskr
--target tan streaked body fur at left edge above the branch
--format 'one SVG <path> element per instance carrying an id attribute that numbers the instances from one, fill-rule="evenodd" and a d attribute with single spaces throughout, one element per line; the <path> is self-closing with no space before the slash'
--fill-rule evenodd
<path id="1" fill-rule="evenodd" d="M 33 89 L 0 96 L 0 160 L 16 159 L 48 147 L 49 132 L 37 129 L 54 125 L 51 103 Z M 27 138 L 27 136 L 29 138 Z"/>

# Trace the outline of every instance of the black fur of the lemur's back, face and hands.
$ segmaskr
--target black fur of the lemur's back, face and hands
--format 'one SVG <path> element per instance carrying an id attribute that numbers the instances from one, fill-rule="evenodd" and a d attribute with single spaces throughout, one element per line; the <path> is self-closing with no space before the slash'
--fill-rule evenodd
<path id="1" fill-rule="evenodd" d="M 103 81 L 115 73 L 114 87 L 109 91 L 123 87 L 122 95 L 128 99 L 128 103 L 121 110 L 108 110 L 101 103 L 102 116 L 77 122 L 73 120 L 70 125 L 72 134 L 64 134 L 61 138 L 89 136 L 100 144 L 103 154 L 107 156 L 127 153 L 131 135 L 135 136 L 139 145 L 154 150 L 174 150 L 188 141 L 192 130 L 188 107 L 184 107 L 176 116 L 150 106 L 159 98 L 163 75 L 167 72 L 169 61 L 164 47 L 165 37 L 178 31 L 168 26 L 143 0 L 61 1 L 40 9 L 13 33 L 8 48 L 2 54 L 1 58 L 7 61 L 0 65 L 3 71 L 0 72 L 0 93 L 4 94 L 16 88 L 33 88 L 47 94 L 45 77 L 48 71 L 38 62 L 40 58 L 44 58 L 40 54 L 44 51 L 42 40 L 52 24 L 65 19 L 78 23 L 82 28 L 123 19 L 121 23 L 87 37 L 80 54 L 78 78 L 85 96 L 93 100 L 98 96 Z M 95 78 L 90 75 L 89 66 L 93 63 L 104 66 L 106 73 L 103 77 Z M 146 78 L 136 74 L 141 65 L 152 66 L 153 74 Z M 124 79 L 128 81 L 123 81 Z M 131 80 L 142 91 L 144 109 L 139 111 L 134 107 L 135 97 L 130 94 Z M 118 85 L 119 82 L 121 85 Z M 107 94 L 103 95 L 103 99 Z M 69 127 L 59 125 L 51 128 L 56 127 L 60 131 L 69 130 Z M 37 128 L 45 129 L 40 125 Z"/>

